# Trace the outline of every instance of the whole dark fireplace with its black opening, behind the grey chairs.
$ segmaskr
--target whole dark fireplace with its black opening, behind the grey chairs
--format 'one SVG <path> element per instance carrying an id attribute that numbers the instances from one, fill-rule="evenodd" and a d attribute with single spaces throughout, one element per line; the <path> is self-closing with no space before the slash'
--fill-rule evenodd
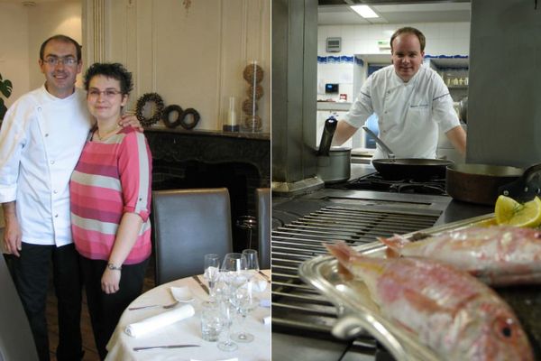
<path id="1" fill-rule="evenodd" d="M 246 248 L 247 231 L 235 223 L 255 216 L 255 189 L 271 187 L 270 134 L 149 128 L 145 135 L 152 153 L 152 190 L 227 188 L 234 250 Z"/>

